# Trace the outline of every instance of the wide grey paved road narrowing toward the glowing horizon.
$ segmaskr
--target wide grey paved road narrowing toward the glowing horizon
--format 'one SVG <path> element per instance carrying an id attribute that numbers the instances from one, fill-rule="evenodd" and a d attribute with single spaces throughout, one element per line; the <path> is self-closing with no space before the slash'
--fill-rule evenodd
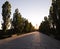
<path id="1" fill-rule="evenodd" d="M 0 49 L 60 49 L 60 41 L 36 31 L 0 40 Z"/>

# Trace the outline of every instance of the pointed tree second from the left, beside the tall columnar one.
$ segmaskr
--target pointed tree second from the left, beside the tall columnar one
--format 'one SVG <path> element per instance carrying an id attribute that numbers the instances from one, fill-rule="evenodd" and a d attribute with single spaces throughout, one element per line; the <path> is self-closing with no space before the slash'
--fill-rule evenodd
<path id="1" fill-rule="evenodd" d="M 13 26 L 16 32 L 22 32 L 23 19 L 18 9 L 15 10 L 15 13 L 13 15 Z"/>

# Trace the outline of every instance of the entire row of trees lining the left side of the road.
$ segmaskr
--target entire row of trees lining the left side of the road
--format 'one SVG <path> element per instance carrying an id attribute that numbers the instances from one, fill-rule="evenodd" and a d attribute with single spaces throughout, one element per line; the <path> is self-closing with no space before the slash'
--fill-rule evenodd
<path id="1" fill-rule="evenodd" d="M 34 31 L 34 27 L 26 18 L 23 18 L 18 9 L 15 9 L 13 19 L 11 17 L 11 4 L 6 1 L 2 5 L 2 30 L 0 39 L 10 37 L 13 34 L 23 34 Z M 10 29 L 8 29 L 10 27 Z"/>

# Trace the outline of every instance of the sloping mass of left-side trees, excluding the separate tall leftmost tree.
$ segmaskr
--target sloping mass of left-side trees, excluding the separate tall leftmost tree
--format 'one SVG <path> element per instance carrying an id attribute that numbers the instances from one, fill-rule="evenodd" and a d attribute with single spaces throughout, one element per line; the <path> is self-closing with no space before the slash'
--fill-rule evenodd
<path id="1" fill-rule="evenodd" d="M 23 18 L 19 13 L 19 10 L 16 9 L 13 16 L 13 26 L 16 33 L 30 32 L 34 28 L 31 23 L 28 22 L 27 19 Z"/>

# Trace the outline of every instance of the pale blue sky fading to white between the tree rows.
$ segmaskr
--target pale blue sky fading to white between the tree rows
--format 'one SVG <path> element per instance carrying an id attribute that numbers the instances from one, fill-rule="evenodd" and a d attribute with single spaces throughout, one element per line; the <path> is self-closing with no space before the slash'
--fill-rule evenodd
<path id="1" fill-rule="evenodd" d="M 0 28 L 2 21 L 2 5 L 5 1 L 11 4 L 11 18 L 15 9 L 18 8 L 22 17 L 28 19 L 29 22 L 36 27 L 44 20 L 44 16 L 49 15 L 51 0 L 0 0 Z"/>

